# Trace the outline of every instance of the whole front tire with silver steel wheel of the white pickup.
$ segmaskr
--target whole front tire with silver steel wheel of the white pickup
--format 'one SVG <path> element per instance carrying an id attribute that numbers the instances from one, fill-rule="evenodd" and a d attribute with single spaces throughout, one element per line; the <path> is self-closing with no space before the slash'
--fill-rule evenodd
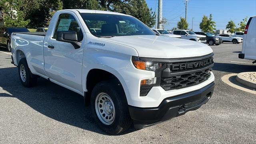
<path id="1" fill-rule="evenodd" d="M 115 80 L 102 81 L 94 86 L 91 109 L 98 126 L 109 134 L 124 132 L 132 124 L 124 90 Z"/>

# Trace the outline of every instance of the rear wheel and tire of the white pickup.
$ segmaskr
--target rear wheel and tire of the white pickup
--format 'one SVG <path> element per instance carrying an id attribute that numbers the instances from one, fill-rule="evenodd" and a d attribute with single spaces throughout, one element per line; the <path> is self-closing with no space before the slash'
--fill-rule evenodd
<path id="1" fill-rule="evenodd" d="M 37 76 L 30 72 L 25 58 L 22 58 L 18 64 L 18 74 L 23 86 L 32 87 L 36 84 Z"/>

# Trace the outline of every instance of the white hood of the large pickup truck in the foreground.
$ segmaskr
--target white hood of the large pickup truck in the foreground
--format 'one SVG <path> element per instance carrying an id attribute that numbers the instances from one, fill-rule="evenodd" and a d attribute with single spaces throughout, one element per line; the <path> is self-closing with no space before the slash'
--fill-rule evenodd
<path id="1" fill-rule="evenodd" d="M 100 39 L 135 48 L 140 57 L 188 58 L 212 53 L 212 48 L 201 42 L 168 36 L 115 36 Z"/>

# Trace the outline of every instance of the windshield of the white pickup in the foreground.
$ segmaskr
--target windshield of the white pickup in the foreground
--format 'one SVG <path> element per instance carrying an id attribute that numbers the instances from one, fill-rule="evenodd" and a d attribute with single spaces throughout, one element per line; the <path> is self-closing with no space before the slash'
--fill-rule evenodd
<path id="1" fill-rule="evenodd" d="M 97 37 L 155 35 L 150 28 L 132 16 L 81 13 L 90 32 Z"/>

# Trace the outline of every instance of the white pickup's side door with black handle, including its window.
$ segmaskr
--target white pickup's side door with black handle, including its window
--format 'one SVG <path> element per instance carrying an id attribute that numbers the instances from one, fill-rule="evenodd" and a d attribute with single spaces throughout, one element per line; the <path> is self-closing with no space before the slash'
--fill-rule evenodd
<path id="1" fill-rule="evenodd" d="M 54 22 L 54 21 L 53 21 Z M 57 31 L 75 31 L 81 47 L 56 41 Z M 52 82 L 82 92 L 82 60 L 86 35 L 72 12 L 62 13 L 44 42 L 44 70 Z"/>

